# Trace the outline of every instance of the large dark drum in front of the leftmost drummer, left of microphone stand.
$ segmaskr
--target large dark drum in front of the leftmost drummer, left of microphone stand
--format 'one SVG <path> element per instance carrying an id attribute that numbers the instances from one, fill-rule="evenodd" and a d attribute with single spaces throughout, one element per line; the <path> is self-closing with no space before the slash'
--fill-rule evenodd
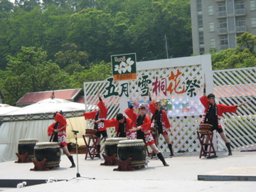
<path id="1" fill-rule="evenodd" d="M 47 159 L 45 167 L 54 169 L 60 167 L 60 146 L 58 142 L 42 142 L 35 146 L 35 160 Z"/>

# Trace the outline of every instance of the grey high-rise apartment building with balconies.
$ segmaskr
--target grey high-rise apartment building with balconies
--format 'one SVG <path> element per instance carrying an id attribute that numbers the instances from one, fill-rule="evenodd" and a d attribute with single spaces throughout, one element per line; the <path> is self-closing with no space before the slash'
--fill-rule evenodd
<path id="1" fill-rule="evenodd" d="M 236 37 L 256 35 L 256 0 L 191 0 L 193 54 L 236 47 Z"/>

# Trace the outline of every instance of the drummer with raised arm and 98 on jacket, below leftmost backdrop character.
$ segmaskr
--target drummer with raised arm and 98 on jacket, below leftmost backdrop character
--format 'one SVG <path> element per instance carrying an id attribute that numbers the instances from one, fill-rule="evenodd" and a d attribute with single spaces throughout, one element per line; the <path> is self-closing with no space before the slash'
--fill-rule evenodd
<path id="1" fill-rule="evenodd" d="M 106 119 L 107 118 L 107 107 L 105 106 L 104 102 L 100 98 L 100 93 L 97 94 L 97 96 L 100 99 L 100 102 L 97 104 L 97 106 L 100 108 L 100 110 L 95 110 L 93 112 L 85 112 L 84 116 L 85 119 L 95 119 L 97 121 L 98 119 Z M 107 129 L 105 127 L 105 124 L 103 122 L 94 124 L 94 129 L 97 130 L 97 149 L 100 152 L 100 136 L 104 138 L 104 140 L 107 139 Z"/>

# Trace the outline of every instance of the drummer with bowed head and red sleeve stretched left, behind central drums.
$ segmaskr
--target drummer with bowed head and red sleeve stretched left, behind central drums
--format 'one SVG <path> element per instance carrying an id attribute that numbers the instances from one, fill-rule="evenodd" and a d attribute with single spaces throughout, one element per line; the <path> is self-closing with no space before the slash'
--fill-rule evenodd
<path id="1" fill-rule="evenodd" d="M 111 120 L 97 120 L 97 123 L 104 122 L 105 127 L 114 127 L 116 137 L 127 137 L 135 139 L 135 131 L 132 131 L 132 119 L 124 117 L 122 113 L 117 114 L 117 118 Z"/>

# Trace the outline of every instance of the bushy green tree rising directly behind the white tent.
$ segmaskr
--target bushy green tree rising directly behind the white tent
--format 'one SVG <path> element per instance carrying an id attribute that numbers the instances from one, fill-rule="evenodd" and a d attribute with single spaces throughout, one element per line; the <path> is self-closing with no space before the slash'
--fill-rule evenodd
<path id="1" fill-rule="evenodd" d="M 51 60 L 47 60 L 42 48 L 21 48 L 17 57 L 8 57 L 6 75 L 3 81 L 4 95 L 14 105 L 26 92 L 58 90 L 69 88 L 69 75 Z"/>

